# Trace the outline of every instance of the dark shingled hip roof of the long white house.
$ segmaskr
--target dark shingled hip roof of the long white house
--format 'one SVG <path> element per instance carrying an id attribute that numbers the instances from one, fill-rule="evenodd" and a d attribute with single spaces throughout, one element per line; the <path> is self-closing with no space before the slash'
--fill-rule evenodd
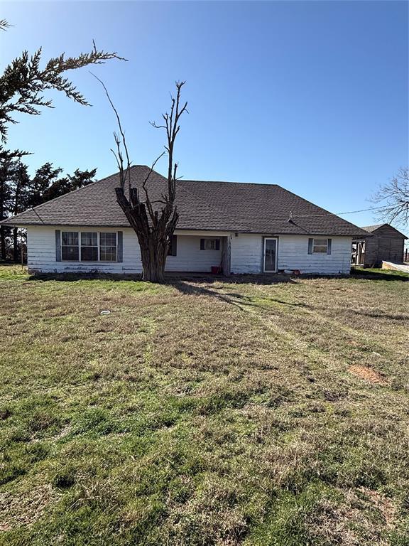
<path id="1" fill-rule="evenodd" d="M 148 167 L 131 168 L 132 185 L 140 187 Z M 4 220 L 4 225 L 76 225 L 129 227 L 116 203 L 119 173 L 93 182 Z M 153 172 L 148 191 L 153 200 L 167 188 Z M 364 230 L 296 196 L 276 184 L 177 182 L 178 230 L 220 230 L 294 235 L 364 235 Z"/>

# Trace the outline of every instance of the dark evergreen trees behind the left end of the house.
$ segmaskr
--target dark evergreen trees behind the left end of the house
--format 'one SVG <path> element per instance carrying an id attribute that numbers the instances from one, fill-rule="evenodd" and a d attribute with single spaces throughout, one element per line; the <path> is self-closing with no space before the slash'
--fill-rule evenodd
<path id="1" fill-rule="evenodd" d="M 45 163 L 30 176 L 28 166 L 20 159 L 0 160 L 0 220 L 87 186 L 94 181 L 97 169 L 81 171 L 77 168 L 67 176 L 61 176 L 62 171 L 52 163 Z M 20 261 L 23 234 L 19 228 L 0 226 L 1 260 Z"/>

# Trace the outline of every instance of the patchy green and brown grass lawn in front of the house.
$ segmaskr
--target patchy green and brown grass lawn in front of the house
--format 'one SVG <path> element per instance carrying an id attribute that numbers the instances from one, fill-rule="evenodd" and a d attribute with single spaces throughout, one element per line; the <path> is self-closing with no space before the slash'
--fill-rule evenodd
<path id="1" fill-rule="evenodd" d="M 408 546 L 409 284 L 390 275 L 0 267 L 0 543 Z"/>

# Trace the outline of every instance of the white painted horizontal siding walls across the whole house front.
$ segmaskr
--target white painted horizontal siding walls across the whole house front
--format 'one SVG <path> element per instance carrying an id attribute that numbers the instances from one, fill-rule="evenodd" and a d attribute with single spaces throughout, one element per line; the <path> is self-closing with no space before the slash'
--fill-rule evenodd
<path id="1" fill-rule="evenodd" d="M 29 226 L 28 268 L 31 272 L 90 272 L 100 271 L 117 274 L 137 274 L 142 271 L 138 240 L 131 228 L 123 228 L 123 262 L 57 262 L 55 259 L 55 229 L 60 226 Z M 80 231 L 73 227 L 69 230 Z M 62 228 L 63 230 L 63 228 Z M 68 228 L 67 228 L 68 230 Z M 87 228 L 87 231 L 104 229 Z M 108 229 L 106 229 L 108 231 Z M 109 229 L 109 231 L 116 231 Z M 178 232 L 177 232 L 178 233 Z M 235 274 L 260 274 L 263 267 L 263 235 L 222 232 L 178 233 L 176 256 L 168 256 L 168 272 L 210 272 L 212 266 L 219 266 L 224 259 L 228 263 L 226 250 L 231 250 L 230 269 Z M 201 237 L 221 237 L 220 250 L 200 250 Z M 229 237 L 229 240 L 227 240 Z M 278 236 L 278 269 L 300 269 L 310 274 L 349 274 L 351 260 L 351 237 L 331 237 L 330 255 L 308 254 L 307 235 Z M 224 255 L 223 255 L 224 250 Z"/>

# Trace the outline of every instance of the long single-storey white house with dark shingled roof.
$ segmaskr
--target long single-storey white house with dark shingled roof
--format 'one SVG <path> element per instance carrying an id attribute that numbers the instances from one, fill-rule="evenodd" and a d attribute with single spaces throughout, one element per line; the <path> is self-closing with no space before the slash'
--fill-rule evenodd
<path id="1" fill-rule="evenodd" d="M 133 166 L 141 187 L 146 166 Z M 31 272 L 134 274 L 142 270 L 135 232 L 116 203 L 119 174 L 108 176 L 7 220 L 27 229 Z M 167 180 L 153 172 L 152 200 Z M 168 272 L 349 274 L 352 239 L 366 234 L 275 184 L 177 183 L 177 230 Z"/>

